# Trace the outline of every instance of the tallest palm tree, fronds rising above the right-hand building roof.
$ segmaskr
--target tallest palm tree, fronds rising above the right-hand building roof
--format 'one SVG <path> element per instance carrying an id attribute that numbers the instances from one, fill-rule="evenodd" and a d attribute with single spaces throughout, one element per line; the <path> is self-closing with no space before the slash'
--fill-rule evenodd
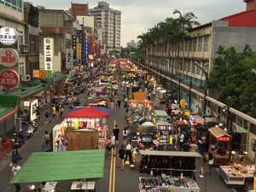
<path id="1" fill-rule="evenodd" d="M 188 13 L 182 13 L 179 10 L 174 10 L 173 12 L 174 15 L 178 15 L 177 17 L 177 24 L 180 26 L 181 29 L 181 36 L 180 36 L 180 41 L 182 42 L 182 67 L 184 66 L 184 44 L 185 44 L 185 39 L 188 37 L 189 31 L 193 29 L 194 26 L 199 26 L 200 23 L 196 21 L 197 17 L 195 14 L 192 12 Z M 178 55 L 179 57 L 180 55 Z M 182 69 L 184 71 L 184 68 Z"/>

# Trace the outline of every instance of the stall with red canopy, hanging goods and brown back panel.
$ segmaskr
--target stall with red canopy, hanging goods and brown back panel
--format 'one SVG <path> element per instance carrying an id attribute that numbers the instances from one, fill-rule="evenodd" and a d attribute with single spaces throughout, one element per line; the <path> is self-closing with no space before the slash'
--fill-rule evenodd
<path id="1" fill-rule="evenodd" d="M 108 136 L 107 108 L 79 108 L 67 113 L 68 150 L 103 149 Z"/>

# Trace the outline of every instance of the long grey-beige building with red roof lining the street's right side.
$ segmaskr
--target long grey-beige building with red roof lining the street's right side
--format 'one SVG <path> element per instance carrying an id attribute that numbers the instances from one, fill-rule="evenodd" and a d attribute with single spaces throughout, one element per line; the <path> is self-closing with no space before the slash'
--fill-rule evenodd
<path id="1" fill-rule="evenodd" d="M 249 45 L 256 50 L 256 20 L 253 19 L 256 18 L 256 1 L 245 2 L 246 11 L 197 26 L 183 42 L 154 45 L 146 50 L 145 66 L 172 82 L 171 89 L 176 98 L 184 98 L 195 113 L 204 113 L 202 109 L 206 102 L 205 114 L 215 116 L 219 122 L 227 119 L 227 114 L 222 113 L 227 105 L 213 99 L 204 84 L 219 46 L 233 46 L 241 51 Z M 250 143 L 256 138 L 256 119 L 235 108 L 228 109 L 231 121 L 228 126 L 243 133 L 241 148 L 253 160 Z"/>

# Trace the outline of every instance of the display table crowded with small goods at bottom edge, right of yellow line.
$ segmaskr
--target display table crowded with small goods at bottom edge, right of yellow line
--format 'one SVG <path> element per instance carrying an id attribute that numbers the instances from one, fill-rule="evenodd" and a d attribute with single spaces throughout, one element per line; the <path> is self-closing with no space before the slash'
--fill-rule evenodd
<path id="1" fill-rule="evenodd" d="M 140 192 L 200 192 L 194 179 L 190 177 L 140 177 Z"/>

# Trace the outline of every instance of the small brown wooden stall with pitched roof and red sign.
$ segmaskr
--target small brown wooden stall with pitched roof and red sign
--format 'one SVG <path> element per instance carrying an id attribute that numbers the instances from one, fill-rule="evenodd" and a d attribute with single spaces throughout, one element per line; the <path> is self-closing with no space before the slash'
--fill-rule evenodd
<path id="1" fill-rule="evenodd" d="M 214 157 L 214 165 L 229 165 L 232 137 L 219 127 L 212 127 L 208 131 L 210 133 L 209 144 Z"/>

